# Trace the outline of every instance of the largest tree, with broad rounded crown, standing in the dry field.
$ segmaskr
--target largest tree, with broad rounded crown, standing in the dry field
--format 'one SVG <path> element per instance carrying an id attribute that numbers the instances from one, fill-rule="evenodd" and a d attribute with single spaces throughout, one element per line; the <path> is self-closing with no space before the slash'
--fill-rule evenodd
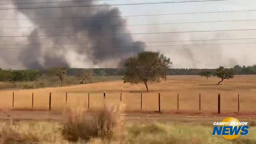
<path id="1" fill-rule="evenodd" d="M 143 83 L 148 91 L 149 81 L 159 82 L 161 78 L 166 78 L 170 64 L 170 58 L 160 55 L 160 52 L 140 52 L 124 62 L 124 83 Z"/>

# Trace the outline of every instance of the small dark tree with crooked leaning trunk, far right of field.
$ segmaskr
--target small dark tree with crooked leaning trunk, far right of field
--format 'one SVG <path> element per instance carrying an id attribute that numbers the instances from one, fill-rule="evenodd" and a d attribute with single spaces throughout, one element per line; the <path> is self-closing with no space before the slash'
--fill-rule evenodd
<path id="1" fill-rule="evenodd" d="M 232 68 L 228 69 L 228 68 L 224 68 L 223 66 L 220 66 L 219 68 L 217 68 L 215 75 L 218 78 L 221 78 L 221 81 L 218 82 L 218 84 L 220 84 L 225 79 L 228 80 L 230 78 L 234 78 L 234 70 Z"/>

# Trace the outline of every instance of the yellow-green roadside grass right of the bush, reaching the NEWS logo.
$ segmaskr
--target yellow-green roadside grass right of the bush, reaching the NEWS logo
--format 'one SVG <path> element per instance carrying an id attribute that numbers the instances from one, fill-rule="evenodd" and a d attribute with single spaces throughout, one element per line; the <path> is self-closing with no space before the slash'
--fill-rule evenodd
<path id="1" fill-rule="evenodd" d="M 256 144 L 256 128 L 250 127 L 248 136 L 226 140 L 212 136 L 211 126 L 150 123 L 127 126 L 130 144 Z"/>

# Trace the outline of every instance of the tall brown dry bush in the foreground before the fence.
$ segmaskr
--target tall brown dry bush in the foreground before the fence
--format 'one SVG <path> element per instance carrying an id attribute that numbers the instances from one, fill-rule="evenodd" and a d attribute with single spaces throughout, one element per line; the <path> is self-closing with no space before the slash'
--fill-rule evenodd
<path id="1" fill-rule="evenodd" d="M 121 106 L 104 107 L 102 110 L 88 112 L 85 108 L 67 107 L 64 111 L 66 121 L 62 135 L 68 141 L 88 141 L 92 138 L 112 140 L 121 138 Z M 116 134 L 115 134 L 116 132 Z"/>

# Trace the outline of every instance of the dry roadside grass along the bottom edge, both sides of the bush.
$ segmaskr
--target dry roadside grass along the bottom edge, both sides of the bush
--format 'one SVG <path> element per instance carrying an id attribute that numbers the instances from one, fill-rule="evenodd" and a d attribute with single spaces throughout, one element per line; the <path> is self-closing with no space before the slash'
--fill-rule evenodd
<path id="1" fill-rule="evenodd" d="M 126 122 L 124 137 L 102 137 L 96 134 L 86 140 L 68 141 L 63 136 L 62 122 L 2 122 L 0 124 L 1 144 L 255 144 L 256 128 L 250 127 L 248 136 L 226 140 L 212 136 L 212 127 L 194 124 L 137 123 Z M 76 129 L 77 130 L 77 129 Z"/>

